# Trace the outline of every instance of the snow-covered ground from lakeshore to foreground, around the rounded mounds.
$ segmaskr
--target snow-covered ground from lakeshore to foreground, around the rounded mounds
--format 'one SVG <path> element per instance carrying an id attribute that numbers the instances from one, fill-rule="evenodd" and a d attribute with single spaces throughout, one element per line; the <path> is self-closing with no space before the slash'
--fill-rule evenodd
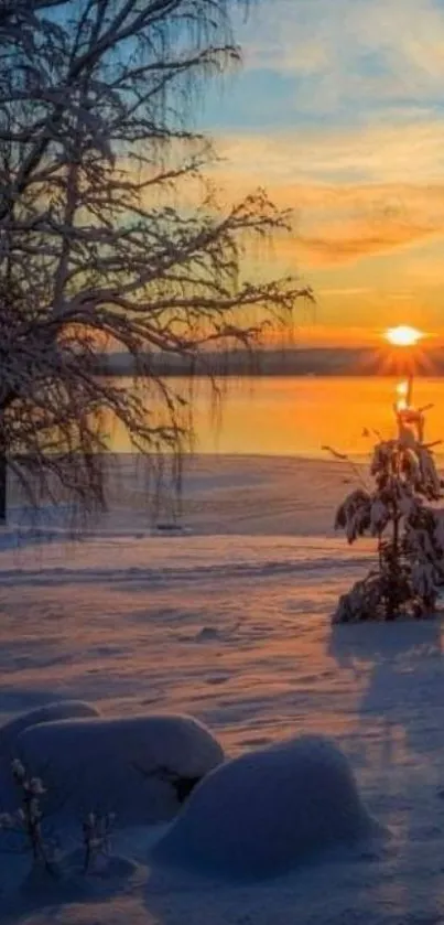
<path id="1" fill-rule="evenodd" d="M 165 825 L 116 828 L 112 857 L 137 876 L 74 876 L 66 890 L 45 880 L 24 908 L 13 896 L 30 857 L 8 853 L 0 833 L 1 923 L 441 925 L 442 625 L 332 627 L 338 596 L 375 561 L 375 540 L 326 536 L 348 467 L 196 458 L 183 499 L 194 536 L 154 538 L 133 462 L 121 465 L 116 504 L 84 542 L 61 528 L 52 542 L 23 531 L 17 548 L 12 515 L 0 528 L 1 722 L 63 697 L 102 717 L 197 716 L 230 757 L 295 732 L 334 736 L 391 839 L 335 846 L 278 879 L 215 876 L 216 890 L 208 875 L 150 864 Z M 59 821 L 47 820 L 71 868 L 80 820 L 72 837 Z"/>

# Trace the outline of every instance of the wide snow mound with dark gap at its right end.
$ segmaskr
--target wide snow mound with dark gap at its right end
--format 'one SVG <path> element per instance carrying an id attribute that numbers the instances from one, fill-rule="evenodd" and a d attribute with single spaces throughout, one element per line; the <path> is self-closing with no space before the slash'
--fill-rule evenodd
<path id="1" fill-rule="evenodd" d="M 202 723 L 176 714 L 42 723 L 19 736 L 18 754 L 47 788 L 45 813 L 76 824 L 113 813 L 118 826 L 171 819 L 224 760 Z"/>

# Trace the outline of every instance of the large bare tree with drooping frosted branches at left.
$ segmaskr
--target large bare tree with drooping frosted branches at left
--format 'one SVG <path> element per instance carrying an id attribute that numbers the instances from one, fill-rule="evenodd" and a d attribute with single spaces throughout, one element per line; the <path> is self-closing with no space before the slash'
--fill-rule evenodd
<path id="1" fill-rule="evenodd" d="M 205 184 L 193 103 L 239 60 L 237 2 L 0 0 L 0 518 L 6 460 L 34 504 L 102 506 L 110 419 L 180 453 L 189 419 L 159 353 L 204 370 L 208 345 L 249 345 L 310 294 L 242 275 L 290 216 L 263 191 L 224 213 Z M 98 376 L 110 349 L 131 383 Z"/>

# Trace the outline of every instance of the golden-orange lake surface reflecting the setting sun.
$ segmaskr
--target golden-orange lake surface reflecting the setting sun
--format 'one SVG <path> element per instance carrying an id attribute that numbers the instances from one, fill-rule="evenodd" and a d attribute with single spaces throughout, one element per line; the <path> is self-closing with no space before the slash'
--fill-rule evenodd
<path id="1" fill-rule="evenodd" d="M 182 394 L 187 385 L 170 380 Z M 194 383 L 195 450 L 198 453 L 296 455 L 326 458 L 325 445 L 353 456 L 367 455 L 375 440 L 365 428 L 389 438 L 394 434 L 393 378 L 258 377 L 227 379 L 220 412 L 205 380 Z M 426 437 L 444 439 L 444 378 L 418 378 L 416 407 L 433 404 Z M 112 449 L 130 449 L 121 432 Z M 443 449 L 436 453 L 444 455 Z"/>

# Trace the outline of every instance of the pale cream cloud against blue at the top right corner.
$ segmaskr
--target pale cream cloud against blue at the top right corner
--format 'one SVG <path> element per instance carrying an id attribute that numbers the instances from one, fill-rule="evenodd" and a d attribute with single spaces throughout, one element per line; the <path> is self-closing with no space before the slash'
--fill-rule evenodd
<path id="1" fill-rule="evenodd" d="M 442 0 L 262 0 L 240 40 L 247 67 L 296 78 L 301 108 L 442 98 Z"/>

